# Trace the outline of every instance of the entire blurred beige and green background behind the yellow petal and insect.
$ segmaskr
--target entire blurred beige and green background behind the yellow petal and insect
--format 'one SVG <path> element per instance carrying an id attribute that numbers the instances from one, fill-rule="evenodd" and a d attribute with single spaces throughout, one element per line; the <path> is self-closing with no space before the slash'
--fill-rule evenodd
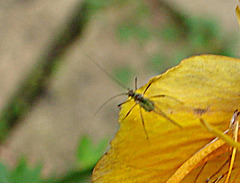
<path id="1" fill-rule="evenodd" d="M 97 112 L 124 88 L 94 62 L 134 88 L 192 55 L 238 57 L 236 5 L 1 1 L 0 182 L 90 182 L 126 98 Z"/>

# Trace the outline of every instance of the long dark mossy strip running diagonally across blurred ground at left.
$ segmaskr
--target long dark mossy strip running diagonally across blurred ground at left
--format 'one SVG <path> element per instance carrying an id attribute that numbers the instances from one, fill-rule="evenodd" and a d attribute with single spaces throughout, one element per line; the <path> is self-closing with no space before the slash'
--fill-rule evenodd
<path id="1" fill-rule="evenodd" d="M 72 15 L 56 37 L 50 41 L 49 46 L 40 56 L 38 64 L 32 69 L 19 89 L 11 97 L 9 103 L 0 114 L 0 141 L 2 142 L 8 132 L 29 112 L 36 99 L 41 96 L 51 79 L 59 59 L 69 46 L 83 35 L 90 16 L 90 6 L 87 1 L 79 2 L 72 11 Z"/>

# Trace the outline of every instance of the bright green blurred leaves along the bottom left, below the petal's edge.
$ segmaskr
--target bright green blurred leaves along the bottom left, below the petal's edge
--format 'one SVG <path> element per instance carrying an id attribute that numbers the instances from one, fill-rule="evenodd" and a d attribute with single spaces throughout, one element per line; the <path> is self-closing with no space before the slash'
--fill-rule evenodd
<path id="1" fill-rule="evenodd" d="M 33 168 L 27 164 L 25 158 L 20 159 L 16 168 L 8 169 L 0 162 L 1 183 L 87 183 L 90 180 L 92 169 L 106 150 L 108 139 L 102 139 L 94 145 L 88 136 L 79 141 L 77 150 L 78 168 L 70 170 L 63 177 L 43 179 L 41 177 L 42 165 Z"/>

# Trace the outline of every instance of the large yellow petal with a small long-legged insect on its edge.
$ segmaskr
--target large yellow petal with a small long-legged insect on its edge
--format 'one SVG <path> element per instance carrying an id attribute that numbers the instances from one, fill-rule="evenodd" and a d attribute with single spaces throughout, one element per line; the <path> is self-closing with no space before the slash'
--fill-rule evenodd
<path id="1" fill-rule="evenodd" d="M 142 93 L 152 82 L 144 97 L 168 95 L 182 101 L 183 104 L 168 97 L 152 99 L 157 109 L 183 128 L 154 112 L 142 110 L 147 139 L 139 105 L 125 118 L 134 105 L 133 100 L 127 102 L 120 111 L 120 129 L 111 149 L 96 165 L 92 182 L 167 182 L 184 162 L 215 138 L 200 124 L 200 118 L 218 130 L 228 129 L 233 111 L 240 108 L 239 71 L 240 59 L 201 55 L 185 59 L 177 67 L 152 78 L 136 92 Z M 209 155 L 197 157 L 203 161 L 195 163 L 188 176 L 185 173 L 183 182 L 193 181 L 204 162 L 207 165 L 198 180 L 206 181 L 229 157 L 227 145 L 212 153 L 207 151 Z"/>

